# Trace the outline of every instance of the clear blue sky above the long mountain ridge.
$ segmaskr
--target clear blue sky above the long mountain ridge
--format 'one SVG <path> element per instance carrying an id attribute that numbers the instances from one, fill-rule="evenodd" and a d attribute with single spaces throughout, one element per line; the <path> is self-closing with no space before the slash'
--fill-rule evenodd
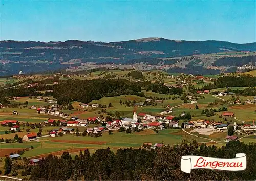
<path id="1" fill-rule="evenodd" d="M 256 1 L 1 0 L 0 39 L 256 42 Z"/>

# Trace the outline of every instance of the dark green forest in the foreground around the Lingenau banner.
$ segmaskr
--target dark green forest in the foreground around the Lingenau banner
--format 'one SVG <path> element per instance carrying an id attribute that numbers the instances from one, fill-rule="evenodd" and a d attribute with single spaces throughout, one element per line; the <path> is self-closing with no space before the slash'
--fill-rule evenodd
<path id="1" fill-rule="evenodd" d="M 255 152 L 255 143 L 231 141 L 218 148 L 183 140 L 180 145 L 155 150 L 127 148 L 114 153 L 107 148 L 90 154 L 86 149 L 74 159 L 65 152 L 60 157 L 48 155 L 34 166 L 26 158 L 21 166 L 8 158 L 6 168 L 9 173 L 22 169 L 22 174 L 30 180 L 255 180 Z M 187 174 L 180 170 L 183 155 L 234 158 L 236 153 L 247 156 L 247 167 L 243 171 L 194 169 Z"/>

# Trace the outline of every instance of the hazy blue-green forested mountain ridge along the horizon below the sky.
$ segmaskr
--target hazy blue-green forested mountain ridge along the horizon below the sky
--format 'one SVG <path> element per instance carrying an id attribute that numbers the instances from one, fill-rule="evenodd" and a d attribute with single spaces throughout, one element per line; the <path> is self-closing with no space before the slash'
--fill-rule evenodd
<path id="1" fill-rule="evenodd" d="M 175 41 L 142 38 L 121 42 L 68 40 L 65 42 L 0 41 L 0 75 L 56 70 L 85 62 L 130 63 L 227 51 L 256 51 L 256 43 Z M 167 64 L 173 64 L 167 62 Z"/>

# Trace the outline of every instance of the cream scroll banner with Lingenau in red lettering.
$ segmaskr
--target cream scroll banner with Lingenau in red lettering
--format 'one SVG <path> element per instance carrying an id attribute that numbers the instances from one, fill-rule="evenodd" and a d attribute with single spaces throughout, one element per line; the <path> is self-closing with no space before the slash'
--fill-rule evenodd
<path id="1" fill-rule="evenodd" d="M 246 155 L 237 153 L 234 159 L 219 159 L 202 156 L 182 156 L 180 169 L 185 173 L 191 173 L 191 169 L 212 169 L 241 171 L 246 168 Z"/>

